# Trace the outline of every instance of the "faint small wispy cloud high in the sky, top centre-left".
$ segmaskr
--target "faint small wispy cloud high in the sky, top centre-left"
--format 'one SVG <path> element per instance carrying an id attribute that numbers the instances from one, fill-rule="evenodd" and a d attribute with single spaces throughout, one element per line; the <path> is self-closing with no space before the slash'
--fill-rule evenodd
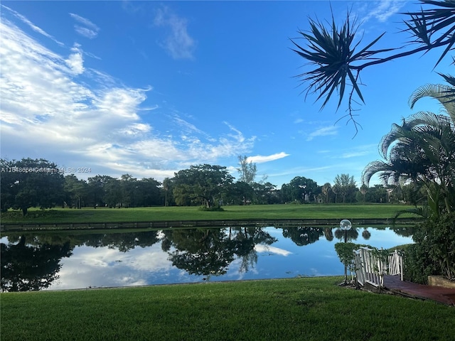
<path id="1" fill-rule="evenodd" d="M 167 28 L 166 38 L 160 44 L 173 59 L 193 59 L 196 41 L 188 33 L 186 18 L 164 7 L 156 11 L 154 25 Z"/>

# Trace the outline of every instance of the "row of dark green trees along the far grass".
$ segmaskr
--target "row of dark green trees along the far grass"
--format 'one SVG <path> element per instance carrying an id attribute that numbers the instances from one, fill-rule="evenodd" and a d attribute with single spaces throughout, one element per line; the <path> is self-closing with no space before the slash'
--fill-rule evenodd
<path id="1" fill-rule="evenodd" d="M 391 191 L 382 185 L 360 188 L 353 176 L 337 175 L 333 184 L 318 185 L 311 178 L 296 176 L 280 189 L 266 180 L 255 181 L 256 165 L 239 156 L 239 180 L 225 166 L 200 164 L 183 169 L 163 182 L 154 178 L 120 178 L 95 175 L 82 180 L 64 175 L 45 159 L 1 159 L 1 211 L 10 208 L 27 214 L 29 207 L 150 207 L 262 205 L 280 203 L 414 202 L 418 188 L 407 185 Z"/>

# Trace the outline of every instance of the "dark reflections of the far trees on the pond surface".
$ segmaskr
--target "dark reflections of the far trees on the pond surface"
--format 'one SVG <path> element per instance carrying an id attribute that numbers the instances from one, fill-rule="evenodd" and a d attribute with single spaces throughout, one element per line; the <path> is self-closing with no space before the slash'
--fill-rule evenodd
<path id="1" fill-rule="evenodd" d="M 386 229 L 375 227 L 374 229 Z M 222 276 L 231 264 L 245 274 L 255 269 L 260 251 L 258 245 L 272 245 L 278 239 L 270 233 L 279 232 L 298 247 L 317 242 L 322 236 L 328 242 L 344 240 L 344 232 L 332 227 L 207 227 L 164 229 L 161 231 L 116 233 L 39 233 L 8 234 L 8 243 L 1 243 L 1 291 L 33 291 L 49 288 L 58 278 L 60 261 L 70 257 L 75 247 L 109 248 L 128 253 L 135 248 L 149 248 L 159 243 L 168 260 L 178 269 L 195 276 Z M 357 227 L 347 232 L 348 241 L 370 238 L 370 227 Z M 372 227 L 373 229 L 373 227 Z M 392 227 L 396 234 L 412 235 L 410 227 Z M 270 232 L 270 233 L 269 233 Z M 4 240 L 4 239 L 2 239 Z M 151 252 L 156 255 L 156 252 Z M 150 259 L 150 264 L 154 259 Z"/>

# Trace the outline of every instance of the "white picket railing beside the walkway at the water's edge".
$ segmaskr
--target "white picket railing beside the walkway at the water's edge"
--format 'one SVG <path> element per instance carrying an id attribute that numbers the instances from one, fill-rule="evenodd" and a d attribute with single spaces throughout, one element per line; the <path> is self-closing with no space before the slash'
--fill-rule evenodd
<path id="1" fill-rule="evenodd" d="M 361 286 L 370 283 L 376 287 L 384 286 L 384 275 L 401 275 L 403 280 L 403 259 L 397 250 L 381 261 L 373 254 L 373 249 L 360 247 L 354 251 L 354 269 L 357 282 Z"/>

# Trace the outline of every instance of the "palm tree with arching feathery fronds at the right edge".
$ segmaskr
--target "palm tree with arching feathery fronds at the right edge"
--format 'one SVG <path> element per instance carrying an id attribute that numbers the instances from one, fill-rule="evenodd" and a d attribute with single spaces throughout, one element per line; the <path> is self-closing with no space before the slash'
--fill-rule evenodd
<path id="1" fill-rule="evenodd" d="M 419 99 L 432 97 L 442 104 L 443 112 L 417 112 L 403 119 L 401 125 L 393 124 L 380 143 L 385 161 L 373 161 L 366 166 L 364 183 L 368 184 L 376 173 L 385 185 L 422 183 L 434 215 L 455 210 L 455 97 L 448 96 L 454 89 L 426 85 L 412 94 L 411 108 Z"/>

